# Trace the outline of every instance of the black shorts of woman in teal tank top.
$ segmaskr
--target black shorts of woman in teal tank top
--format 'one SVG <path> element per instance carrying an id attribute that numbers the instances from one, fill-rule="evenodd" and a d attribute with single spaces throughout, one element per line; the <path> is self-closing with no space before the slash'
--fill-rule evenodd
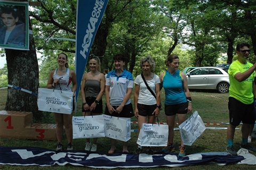
<path id="1" fill-rule="evenodd" d="M 188 113 L 188 102 L 180 104 L 164 104 L 165 115 L 173 116 L 176 114 L 187 114 Z"/>

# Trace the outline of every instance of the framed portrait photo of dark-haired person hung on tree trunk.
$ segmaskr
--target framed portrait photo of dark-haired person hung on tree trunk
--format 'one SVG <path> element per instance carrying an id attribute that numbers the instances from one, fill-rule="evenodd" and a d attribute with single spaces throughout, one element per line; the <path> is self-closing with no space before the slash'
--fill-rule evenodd
<path id="1" fill-rule="evenodd" d="M 0 0 L 0 47 L 29 50 L 28 2 Z"/>

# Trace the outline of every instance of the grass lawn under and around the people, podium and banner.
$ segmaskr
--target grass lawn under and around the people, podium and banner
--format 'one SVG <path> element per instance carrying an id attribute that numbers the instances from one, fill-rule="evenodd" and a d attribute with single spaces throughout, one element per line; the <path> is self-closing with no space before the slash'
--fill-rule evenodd
<path id="1" fill-rule="evenodd" d="M 164 91 L 161 91 L 161 100 L 164 103 Z M 193 111 L 197 110 L 199 115 L 202 117 L 203 122 L 206 124 L 222 124 L 229 122 L 229 113 L 228 113 L 228 93 L 220 94 L 217 91 L 190 91 L 191 98 L 193 99 L 192 107 Z M 0 109 L 4 110 L 5 100 L 6 100 L 7 90 L 0 90 Z M 133 103 L 133 95 L 132 95 Z M 105 96 L 103 96 L 103 104 L 105 104 Z M 105 108 L 104 108 L 105 110 Z M 82 100 L 81 94 L 78 96 L 77 101 L 77 112 L 76 116 L 82 115 Z M 54 123 L 53 116 L 50 112 L 44 113 L 44 119 L 42 123 Z M 135 117 L 132 117 L 132 121 L 137 122 Z M 161 111 L 159 116 L 159 122 L 166 122 L 164 109 Z M 178 121 L 176 121 L 178 122 Z M 227 127 L 227 124 L 223 125 L 206 125 L 206 127 Z M 179 128 L 178 125 L 175 125 L 174 128 Z M 241 126 L 238 126 L 241 128 Z M 138 129 L 137 124 L 132 124 L 131 129 Z M 234 147 L 238 151 L 239 144 L 242 140 L 241 131 L 238 129 L 235 132 Z M 84 139 L 74 139 L 74 149 L 84 150 L 85 148 Z M 137 133 L 132 132 L 131 140 L 129 140 L 128 149 L 129 152 L 135 152 L 137 149 Z M 67 145 L 66 136 L 63 138 L 64 147 Z M 28 147 L 41 147 L 55 150 L 57 147 L 57 141 L 40 141 L 40 140 L 26 140 L 26 139 L 9 139 L 0 137 L 0 145 L 2 146 L 28 146 Z M 178 153 L 178 147 L 180 145 L 180 133 L 175 131 L 174 135 L 174 145 L 176 152 Z M 256 147 L 256 139 L 252 140 L 252 145 Z M 226 151 L 227 147 L 227 130 L 215 130 L 215 129 L 206 129 L 204 133 L 195 141 L 192 146 L 187 146 L 187 154 L 189 153 L 198 153 L 198 152 L 223 152 Z M 117 142 L 116 145 L 117 152 L 122 151 L 122 143 Z M 99 152 L 107 152 L 110 149 L 110 140 L 107 137 L 102 137 L 98 139 L 98 150 Z M 154 151 L 161 151 L 162 147 L 154 147 Z M 256 154 L 253 153 L 255 156 Z M 72 165 L 58 166 L 54 165 L 51 167 L 39 167 L 39 166 L 7 166 L 0 165 L 0 169 L 78 169 L 81 167 L 76 167 Z M 83 167 L 84 169 L 92 169 L 88 167 Z M 155 167 L 154 169 L 169 169 L 170 167 Z M 118 168 L 121 169 L 121 168 Z M 130 168 L 129 168 L 130 169 Z M 146 168 L 131 168 L 131 169 L 146 169 Z M 147 168 L 148 169 L 148 168 Z M 196 166 L 183 166 L 183 167 L 173 167 L 172 169 L 255 169 L 254 165 L 225 165 L 218 166 L 215 164 L 203 164 Z"/>

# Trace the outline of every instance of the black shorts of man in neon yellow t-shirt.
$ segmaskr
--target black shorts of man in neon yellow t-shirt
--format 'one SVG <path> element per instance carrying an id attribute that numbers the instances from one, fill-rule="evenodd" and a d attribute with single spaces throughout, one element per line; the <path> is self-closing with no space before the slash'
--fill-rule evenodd
<path id="1" fill-rule="evenodd" d="M 229 97 L 228 98 L 229 109 L 229 123 L 233 126 L 238 126 L 241 121 L 245 124 L 255 123 L 255 110 L 254 104 L 244 104 L 241 101 Z"/>

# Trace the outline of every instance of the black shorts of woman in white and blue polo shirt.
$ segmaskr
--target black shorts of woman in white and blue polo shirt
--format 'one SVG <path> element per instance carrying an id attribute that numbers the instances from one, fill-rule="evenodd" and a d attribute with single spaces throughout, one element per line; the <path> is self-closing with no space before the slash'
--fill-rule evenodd
<path id="1" fill-rule="evenodd" d="M 118 106 L 112 106 L 114 109 L 118 108 Z M 123 110 L 120 112 L 120 114 L 118 114 L 117 112 L 113 112 L 112 114 L 109 113 L 108 111 L 108 107 L 106 105 L 106 109 L 105 109 L 105 115 L 109 115 L 109 116 L 115 116 L 115 117 L 133 117 L 133 108 L 132 108 L 132 103 L 130 104 L 126 104 L 123 108 Z"/>

